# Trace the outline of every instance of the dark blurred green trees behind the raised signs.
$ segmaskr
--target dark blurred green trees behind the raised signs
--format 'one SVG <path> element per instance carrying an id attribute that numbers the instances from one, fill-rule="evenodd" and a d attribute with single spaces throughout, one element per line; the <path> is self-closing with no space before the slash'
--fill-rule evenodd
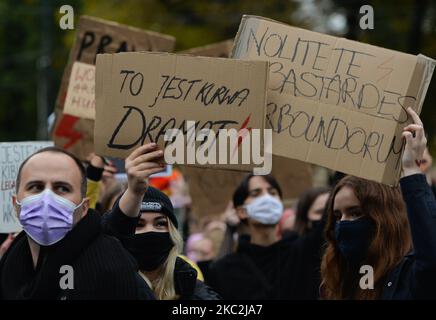
<path id="1" fill-rule="evenodd" d="M 51 38 L 50 111 L 54 106 L 74 31 L 59 28 L 59 8 L 69 4 L 79 15 L 96 16 L 176 37 L 176 50 L 233 38 L 243 14 L 254 14 L 312 29 L 313 20 L 333 13 L 347 17 L 348 38 L 436 59 L 436 1 L 432 0 L 311 0 L 319 17 L 300 19 L 307 0 L 51 0 L 51 34 L 42 32 L 43 0 L 0 1 L 0 141 L 37 138 L 38 63 L 40 43 Z M 327 5 L 326 5 L 327 4 Z M 359 8 L 370 4 L 375 29 L 358 28 Z M 419 28 L 417 29 L 417 26 Z M 436 78 L 436 75 L 434 76 Z M 436 80 L 433 79 L 422 118 L 436 152 Z"/>

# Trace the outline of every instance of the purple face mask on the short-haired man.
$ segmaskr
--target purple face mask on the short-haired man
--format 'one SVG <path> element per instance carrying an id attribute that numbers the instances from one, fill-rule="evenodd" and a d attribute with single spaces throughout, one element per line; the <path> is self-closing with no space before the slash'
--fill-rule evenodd
<path id="1" fill-rule="evenodd" d="M 20 223 L 24 231 L 42 246 L 62 240 L 73 228 L 73 214 L 82 204 L 58 196 L 50 189 L 24 198 L 17 204 L 21 207 Z"/>

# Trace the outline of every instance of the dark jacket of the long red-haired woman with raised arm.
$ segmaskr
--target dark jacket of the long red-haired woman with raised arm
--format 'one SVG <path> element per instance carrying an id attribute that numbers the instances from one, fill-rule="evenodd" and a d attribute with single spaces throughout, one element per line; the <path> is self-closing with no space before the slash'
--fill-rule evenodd
<path id="1" fill-rule="evenodd" d="M 400 180 L 413 251 L 389 274 L 382 299 L 436 299 L 436 200 L 423 174 Z"/>

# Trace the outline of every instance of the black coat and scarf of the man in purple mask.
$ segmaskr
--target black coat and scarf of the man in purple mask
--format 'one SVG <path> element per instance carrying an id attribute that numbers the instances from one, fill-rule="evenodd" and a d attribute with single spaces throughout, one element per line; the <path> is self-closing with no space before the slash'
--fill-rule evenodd
<path id="1" fill-rule="evenodd" d="M 72 281 L 61 286 L 62 266 L 72 267 Z M 73 286 L 71 286 L 71 283 Z M 33 261 L 21 232 L 0 260 L 1 299 L 150 299 L 151 290 L 121 243 L 102 233 L 93 211 L 58 243 L 40 247 Z"/>

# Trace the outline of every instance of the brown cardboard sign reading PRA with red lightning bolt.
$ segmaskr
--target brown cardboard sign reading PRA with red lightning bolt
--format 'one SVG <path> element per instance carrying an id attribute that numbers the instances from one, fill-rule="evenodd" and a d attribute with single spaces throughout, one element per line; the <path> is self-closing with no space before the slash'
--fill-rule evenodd
<path id="1" fill-rule="evenodd" d="M 70 108 L 65 110 L 74 115 L 63 112 L 71 71 L 75 62 L 95 65 L 98 53 L 172 51 L 174 45 L 175 38 L 172 36 L 94 17 L 81 16 L 55 105 L 56 122 L 53 140 L 56 146 L 72 152 L 82 160 L 94 151 L 94 121 L 92 121 L 91 110 L 87 110 L 85 114 L 77 112 L 77 110 L 74 111 L 74 108 L 73 111 Z"/>

